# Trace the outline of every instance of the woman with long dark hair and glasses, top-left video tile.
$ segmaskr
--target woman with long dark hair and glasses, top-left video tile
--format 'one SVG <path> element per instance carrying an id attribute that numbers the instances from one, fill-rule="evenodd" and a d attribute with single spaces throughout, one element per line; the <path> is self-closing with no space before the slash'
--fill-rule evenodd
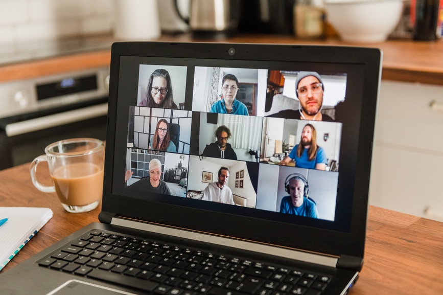
<path id="1" fill-rule="evenodd" d="M 149 77 L 145 99 L 138 106 L 178 109 L 172 96 L 172 83 L 169 72 L 155 70 Z"/>

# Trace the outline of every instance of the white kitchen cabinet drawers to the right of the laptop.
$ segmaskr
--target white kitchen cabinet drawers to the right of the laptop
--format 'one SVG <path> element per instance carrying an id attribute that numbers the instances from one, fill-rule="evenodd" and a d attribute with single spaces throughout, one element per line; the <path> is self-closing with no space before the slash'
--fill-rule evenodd
<path id="1" fill-rule="evenodd" d="M 382 81 L 369 203 L 443 220 L 443 86 Z"/>

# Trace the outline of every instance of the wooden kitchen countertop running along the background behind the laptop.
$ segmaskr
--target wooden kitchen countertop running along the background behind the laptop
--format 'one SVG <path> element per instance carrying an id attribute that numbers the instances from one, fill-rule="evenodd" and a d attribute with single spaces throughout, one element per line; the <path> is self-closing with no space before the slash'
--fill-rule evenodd
<path id="1" fill-rule="evenodd" d="M 83 41 L 81 41 L 83 40 Z M 0 82 L 33 78 L 55 73 L 89 69 L 108 65 L 110 61 L 110 36 L 60 41 L 62 45 L 51 46 L 59 51 L 48 50 L 30 59 L 12 59 L 6 63 L 0 54 Z M 380 48 L 384 52 L 382 79 L 443 84 L 443 39 L 433 42 L 412 40 L 388 40 L 375 44 L 351 44 L 338 39 L 299 40 L 289 35 L 241 34 L 226 39 L 193 39 L 190 34 L 162 35 L 157 41 L 166 42 L 223 42 L 223 43 L 278 43 L 323 44 L 327 46 L 360 46 Z M 69 44 L 74 44 L 69 46 Z"/>

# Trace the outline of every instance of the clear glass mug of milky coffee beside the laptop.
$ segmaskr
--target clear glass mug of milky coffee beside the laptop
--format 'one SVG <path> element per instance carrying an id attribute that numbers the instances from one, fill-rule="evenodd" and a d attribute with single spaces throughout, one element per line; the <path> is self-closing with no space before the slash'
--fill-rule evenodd
<path id="1" fill-rule="evenodd" d="M 44 152 L 29 168 L 34 186 L 42 192 L 57 193 L 68 212 L 96 209 L 103 193 L 103 142 L 90 138 L 62 140 L 50 144 Z M 37 166 L 41 162 L 48 162 L 54 186 L 44 186 L 37 180 Z"/>

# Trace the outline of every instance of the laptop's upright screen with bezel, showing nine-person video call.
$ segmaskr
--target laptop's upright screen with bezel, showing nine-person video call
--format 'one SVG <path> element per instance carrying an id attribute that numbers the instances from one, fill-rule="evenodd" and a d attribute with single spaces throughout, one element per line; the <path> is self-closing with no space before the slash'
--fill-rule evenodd
<path id="1" fill-rule="evenodd" d="M 346 235 L 353 214 L 365 219 L 380 61 L 138 44 L 113 47 L 103 210 L 248 239 L 268 224 Z"/>

